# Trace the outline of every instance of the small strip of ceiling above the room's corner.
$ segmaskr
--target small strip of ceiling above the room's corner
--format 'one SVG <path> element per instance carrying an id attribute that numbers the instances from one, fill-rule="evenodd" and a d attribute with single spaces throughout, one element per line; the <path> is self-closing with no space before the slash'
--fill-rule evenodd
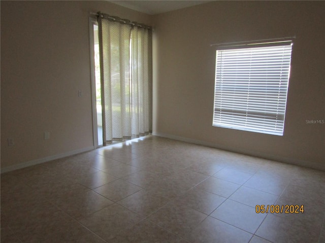
<path id="1" fill-rule="evenodd" d="M 117 4 L 129 9 L 133 9 L 142 13 L 146 13 L 149 15 L 154 14 L 161 14 L 166 13 L 169 11 L 177 10 L 177 9 L 183 9 L 187 7 L 191 7 L 194 5 L 204 4 L 211 1 L 205 1 L 205 0 L 197 0 L 197 1 L 186 1 L 186 0 L 178 0 L 178 1 L 109 1 L 113 4 Z"/>

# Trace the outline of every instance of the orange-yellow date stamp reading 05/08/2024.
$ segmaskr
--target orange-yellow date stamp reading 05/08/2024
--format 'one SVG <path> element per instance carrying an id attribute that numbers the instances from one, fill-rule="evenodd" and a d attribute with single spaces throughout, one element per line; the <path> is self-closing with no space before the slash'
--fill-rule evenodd
<path id="1" fill-rule="evenodd" d="M 256 214 L 303 214 L 304 205 L 256 205 Z"/>

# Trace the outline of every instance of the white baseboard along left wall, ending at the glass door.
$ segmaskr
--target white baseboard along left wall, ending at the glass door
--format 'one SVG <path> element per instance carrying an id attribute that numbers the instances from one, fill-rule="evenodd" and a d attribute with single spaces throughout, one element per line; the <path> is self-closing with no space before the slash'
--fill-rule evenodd
<path id="1" fill-rule="evenodd" d="M 22 168 L 25 168 L 25 167 L 28 167 L 28 166 L 35 166 L 35 165 L 42 164 L 42 163 L 45 163 L 45 162 L 48 162 L 48 161 L 51 161 L 51 160 L 54 160 L 54 159 L 68 157 L 68 156 L 71 156 L 71 155 L 75 155 L 75 154 L 78 154 L 78 153 L 90 151 L 90 150 L 93 150 L 93 149 L 94 149 L 94 146 L 90 146 L 90 147 L 87 147 L 87 148 L 81 148 L 81 149 L 69 151 L 67 153 L 55 154 L 55 155 L 51 155 L 51 156 L 44 157 L 44 158 L 38 158 L 38 159 L 30 160 L 30 161 L 20 163 L 20 164 L 17 164 L 17 165 L 1 168 L 1 174 L 6 173 L 6 172 L 10 172 L 10 171 L 14 171 L 14 170 L 18 170 L 18 169 L 22 169 Z"/>

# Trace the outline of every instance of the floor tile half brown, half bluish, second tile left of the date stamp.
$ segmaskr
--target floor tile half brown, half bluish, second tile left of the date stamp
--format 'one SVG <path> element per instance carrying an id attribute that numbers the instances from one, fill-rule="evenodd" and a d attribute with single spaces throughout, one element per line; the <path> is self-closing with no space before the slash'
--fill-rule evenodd
<path id="1" fill-rule="evenodd" d="M 220 206 L 225 199 L 225 197 L 194 188 L 177 197 L 174 203 L 185 205 L 191 209 L 209 215 Z"/>

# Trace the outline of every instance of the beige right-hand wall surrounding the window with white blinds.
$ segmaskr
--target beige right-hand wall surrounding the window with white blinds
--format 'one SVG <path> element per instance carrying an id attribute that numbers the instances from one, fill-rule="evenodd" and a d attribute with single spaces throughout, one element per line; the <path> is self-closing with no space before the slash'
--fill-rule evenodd
<path id="1" fill-rule="evenodd" d="M 154 134 L 325 169 L 325 124 L 306 124 L 325 119 L 324 14 L 325 2 L 217 1 L 154 16 Z M 284 136 L 212 127 L 210 44 L 294 35 Z"/>

